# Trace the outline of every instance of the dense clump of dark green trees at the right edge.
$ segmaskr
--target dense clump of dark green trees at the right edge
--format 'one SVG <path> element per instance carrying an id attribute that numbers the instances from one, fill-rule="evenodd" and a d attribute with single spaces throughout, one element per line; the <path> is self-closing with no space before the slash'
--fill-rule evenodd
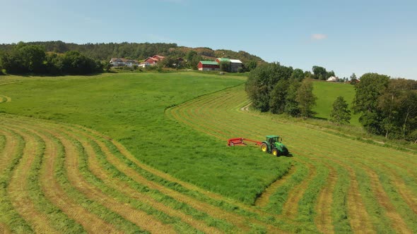
<path id="1" fill-rule="evenodd" d="M 417 143 L 417 81 L 366 73 L 355 86 L 353 111 L 369 133 Z"/>

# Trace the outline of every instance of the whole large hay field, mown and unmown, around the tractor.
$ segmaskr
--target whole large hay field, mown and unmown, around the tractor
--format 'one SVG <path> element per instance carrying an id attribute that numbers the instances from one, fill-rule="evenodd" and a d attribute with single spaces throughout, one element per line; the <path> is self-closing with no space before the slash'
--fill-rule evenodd
<path id="1" fill-rule="evenodd" d="M 417 232 L 415 153 L 242 110 L 242 77 L 8 79 L 0 233 Z M 269 134 L 293 155 L 225 147 Z"/>

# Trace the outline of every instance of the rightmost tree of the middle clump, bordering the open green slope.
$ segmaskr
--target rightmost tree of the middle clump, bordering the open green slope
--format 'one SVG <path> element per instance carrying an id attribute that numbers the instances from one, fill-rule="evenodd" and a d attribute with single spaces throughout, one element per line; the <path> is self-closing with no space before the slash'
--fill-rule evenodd
<path id="1" fill-rule="evenodd" d="M 313 115 L 312 107 L 316 104 L 317 97 L 312 93 L 312 80 L 305 79 L 297 90 L 298 107 L 300 108 L 300 115 L 304 118 L 309 118 Z"/>

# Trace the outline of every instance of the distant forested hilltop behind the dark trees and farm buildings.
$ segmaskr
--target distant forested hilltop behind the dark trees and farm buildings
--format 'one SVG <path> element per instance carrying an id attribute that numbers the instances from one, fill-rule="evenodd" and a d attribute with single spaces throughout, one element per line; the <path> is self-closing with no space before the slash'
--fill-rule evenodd
<path id="1" fill-rule="evenodd" d="M 75 44 L 61 41 L 51 42 L 27 42 L 27 44 L 41 45 L 46 51 L 65 53 L 66 51 L 80 51 L 86 56 L 100 60 L 110 60 L 112 57 L 145 59 L 149 56 L 159 54 L 162 56 L 185 57 L 189 51 L 196 51 L 200 56 L 208 57 L 229 57 L 247 61 L 264 61 L 259 56 L 249 54 L 245 51 L 231 51 L 228 49 L 213 50 L 207 47 L 191 48 L 179 47 L 175 43 L 88 43 Z M 9 51 L 16 44 L 0 44 L 0 51 Z"/>

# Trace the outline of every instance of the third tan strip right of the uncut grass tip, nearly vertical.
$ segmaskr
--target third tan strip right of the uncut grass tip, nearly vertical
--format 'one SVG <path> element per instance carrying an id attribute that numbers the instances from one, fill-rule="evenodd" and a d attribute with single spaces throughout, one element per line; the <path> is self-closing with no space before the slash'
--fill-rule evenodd
<path id="1" fill-rule="evenodd" d="M 334 233 L 334 226 L 331 220 L 331 205 L 333 204 L 333 192 L 337 181 L 337 173 L 334 167 L 328 164 L 327 168 L 330 169 L 329 177 L 317 199 L 315 223 L 320 232 Z"/>

